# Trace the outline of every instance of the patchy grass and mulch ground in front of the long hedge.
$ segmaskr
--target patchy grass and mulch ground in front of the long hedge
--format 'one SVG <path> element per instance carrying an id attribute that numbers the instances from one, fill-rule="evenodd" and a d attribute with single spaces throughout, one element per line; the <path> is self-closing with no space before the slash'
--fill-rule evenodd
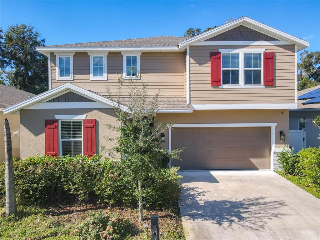
<path id="1" fill-rule="evenodd" d="M 71 240 L 80 239 L 75 234 L 76 228 L 87 218 L 92 211 L 105 209 L 105 205 L 70 204 L 52 208 L 18 207 L 17 215 L 0 216 L 0 239 L 45 239 L 45 240 Z M 143 226 L 150 223 L 150 215 L 159 215 L 160 237 L 163 240 L 183 240 L 184 230 L 179 210 L 176 211 L 150 211 L 144 210 L 144 221 L 139 222 L 137 209 L 114 207 L 114 212 L 127 217 L 132 223 L 129 240 L 147 239 Z M 4 208 L 0 213 L 5 212 Z M 53 235 L 53 236 L 50 236 Z M 47 236 L 40 238 L 41 236 Z M 150 238 L 150 229 L 149 229 Z"/>

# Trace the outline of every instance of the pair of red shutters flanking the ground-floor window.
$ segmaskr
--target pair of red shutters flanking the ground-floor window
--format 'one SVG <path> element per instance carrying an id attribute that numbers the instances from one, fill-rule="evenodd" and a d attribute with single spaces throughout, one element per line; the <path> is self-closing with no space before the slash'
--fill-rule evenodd
<path id="1" fill-rule="evenodd" d="M 96 154 L 96 120 L 84 119 L 83 125 L 83 153 L 88 158 Z M 45 155 L 58 158 L 58 120 L 45 120 Z"/>

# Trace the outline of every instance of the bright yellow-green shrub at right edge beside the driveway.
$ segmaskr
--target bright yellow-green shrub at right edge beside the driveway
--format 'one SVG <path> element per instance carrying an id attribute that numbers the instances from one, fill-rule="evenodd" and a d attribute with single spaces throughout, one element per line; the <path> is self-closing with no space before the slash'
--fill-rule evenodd
<path id="1" fill-rule="evenodd" d="M 320 185 L 320 148 L 302 149 L 298 156 L 307 182 Z"/>

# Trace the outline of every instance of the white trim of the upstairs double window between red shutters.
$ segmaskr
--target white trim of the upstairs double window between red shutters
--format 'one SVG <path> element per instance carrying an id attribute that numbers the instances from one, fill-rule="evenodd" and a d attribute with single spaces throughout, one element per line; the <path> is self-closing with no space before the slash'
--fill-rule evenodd
<path id="1" fill-rule="evenodd" d="M 266 49 L 265 48 L 252 48 L 252 49 L 248 49 L 248 48 L 240 48 L 240 49 L 236 49 L 236 48 L 232 48 L 232 49 L 228 49 L 228 48 L 219 48 L 219 52 L 221 52 L 221 86 L 219 86 L 219 88 L 265 88 L 265 86 L 263 85 L 263 52 L 265 52 Z M 239 53 L 239 84 L 226 84 L 223 85 L 223 74 L 222 74 L 222 53 Z M 260 79 L 261 79 L 261 83 L 260 84 L 244 84 L 244 53 L 261 53 L 261 68 L 257 68 L 257 70 L 261 70 L 261 75 L 260 75 Z M 227 69 L 234 69 L 234 68 L 225 68 L 225 70 Z M 236 68 L 237 70 L 237 68 Z"/>

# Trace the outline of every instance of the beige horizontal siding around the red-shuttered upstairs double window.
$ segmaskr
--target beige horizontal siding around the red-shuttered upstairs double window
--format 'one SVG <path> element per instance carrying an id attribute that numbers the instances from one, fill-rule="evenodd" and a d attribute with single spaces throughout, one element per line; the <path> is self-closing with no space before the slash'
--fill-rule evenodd
<path id="1" fill-rule="evenodd" d="M 265 88 L 219 88 L 210 84 L 210 52 L 219 48 L 265 48 L 275 52 L 275 85 Z M 190 46 L 191 104 L 294 103 L 294 45 Z"/>

